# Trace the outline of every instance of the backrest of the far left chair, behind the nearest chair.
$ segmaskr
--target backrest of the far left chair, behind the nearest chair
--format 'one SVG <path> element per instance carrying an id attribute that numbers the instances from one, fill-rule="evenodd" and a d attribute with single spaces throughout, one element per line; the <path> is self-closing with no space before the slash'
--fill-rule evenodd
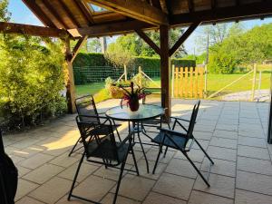
<path id="1" fill-rule="evenodd" d="M 85 95 L 83 97 L 77 98 L 75 100 L 75 107 L 78 115 L 85 115 L 85 116 L 98 116 L 98 112 L 95 106 L 94 99 L 92 95 Z M 85 120 L 90 120 L 89 122 L 100 122 L 99 117 L 94 118 L 84 118 Z M 83 121 L 83 119 L 81 120 Z"/>

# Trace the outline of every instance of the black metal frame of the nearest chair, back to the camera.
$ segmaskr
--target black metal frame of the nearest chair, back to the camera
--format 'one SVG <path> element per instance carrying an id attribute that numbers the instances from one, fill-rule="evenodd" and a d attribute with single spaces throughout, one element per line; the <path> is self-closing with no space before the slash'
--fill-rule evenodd
<path id="1" fill-rule="evenodd" d="M 114 199 L 113 199 L 113 202 L 112 202 L 113 204 L 115 204 L 117 196 L 118 196 L 118 192 L 119 192 L 119 189 L 120 189 L 123 170 L 128 170 L 128 169 L 125 169 L 125 164 L 126 164 L 128 154 L 130 152 L 132 154 L 132 158 L 133 158 L 136 170 L 128 170 L 128 171 L 136 172 L 137 175 L 139 176 L 139 170 L 138 170 L 135 154 L 134 154 L 134 151 L 132 149 L 132 143 L 131 143 L 132 142 L 132 134 L 130 133 L 123 141 L 116 142 L 115 137 L 114 137 L 113 127 L 112 127 L 112 121 L 110 121 L 107 117 L 102 117 L 102 116 L 83 116 L 83 117 L 88 117 L 88 118 L 92 117 L 92 118 L 97 118 L 97 119 L 104 119 L 105 121 L 103 123 L 97 123 L 96 124 L 98 126 L 105 125 L 105 122 L 110 123 L 110 126 L 107 126 L 107 127 L 109 127 L 109 130 L 110 130 L 109 134 L 110 134 L 110 138 L 111 138 L 111 142 L 112 142 L 112 147 L 116 148 L 114 150 L 114 152 L 113 152 L 114 155 L 112 154 L 113 158 L 115 158 L 116 160 L 115 159 L 110 160 L 109 158 L 106 158 L 103 155 L 101 155 L 101 156 L 96 155 L 94 157 L 92 155 L 92 152 L 89 152 L 89 146 L 92 144 L 92 142 L 95 141 L 97 143 L 97 145 L 98 145 L 97 148 L 99 148 L 100 145 L 102 145 L 102 143 L 101 143 L 101 140 L 98 137 L 98 135 L 92 135 L 92 131 L 90 131 L 90 130 L 92 130 L 93 123 L 89 123 L 89 122 L 86 122 L 86 121 L 85 122 L 80 121 L 80 116 L 77 116 L 76 121 L 77 121 L 77 124 L 78 124 L 78 128 L 79 128 L 79 130 L 81 132 L 81 136 L 83 136 L 83 139 L 85 139 L 85 138 L 87 138 L 87 135 L 90 134 L 90 135 L 88 135 L 90 137 L 90 139 L 89 139 L 89 141 L 83 140 L 83 147 L 84 147 L 83 156 L 82 156 L 81 160 L 79 161 L 79 165 L 78 165 L 77 170 L 75 172 L 75 175 L 74 175 L 74 178 L 73 178 L 73 184 L 72 184 L 71 190 L 69 192 L 68 200 L 70 200 L 73 197 L 73 198 L 76 198 L 76 199 L 83 199 L 85 201 L 89 201 L 89 202 L 92 202 L 92 203 L 99 203 L 99 202 L 96 202 L 96 201 L 93 201 L 93 200 L 90 200 L 90 199 L 84 199 L 83 197 L 73 195 L 73 189 L 74 189 L 75 182 L 77 180 L 79 171 L 80 171 L 81 166 L 83 164 L 83 159 L 84 159 L 84 157 L 86 157 L 86 161 L 102 164 L 102 165 L 105 166 L 106 169 L 107 168 L 120 169 L 120 175 L 119 175 L 119 179 L 117 181 L 117 187 L 116 187 Z M 119 155 L 118 155 L 118 150 L 121 149 L 127 142 L 129 142 L 128 149 L 125 152 L 125 156 L 122 158 L 122 160 L 120 160 Z M 112 150 L 113 149 L 111 149 L 111 151 Z M 102 161 L 92 160 L 91 157 L 101 159 Z M 112 163 L 112 161 L 115 161 L 115 163 Z M 118 167 L 120 164 L 121 164 L 121 167 Z"/>

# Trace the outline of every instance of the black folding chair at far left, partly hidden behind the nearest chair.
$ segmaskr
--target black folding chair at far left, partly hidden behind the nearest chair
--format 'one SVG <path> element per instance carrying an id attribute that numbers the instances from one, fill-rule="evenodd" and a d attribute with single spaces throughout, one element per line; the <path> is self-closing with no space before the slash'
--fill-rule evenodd
<path id="1" fill-rule="evenodd" d="M 92 97 L 92 95 L 85 95 L 83 97 L 77 98 L 75 100 L 75 107 L 76 107 L 76 111 L 78 113 L 78 115 L 90 115 L 90 116 L 100 116 L 101 114 L 104 114 L 104 112 L 97 112 L 96 106 L 95 106 L 95 102 L 94 99 Z M 88 119 L 84 119 L 84 120 L 88 120 L 89 122 L 99 122 L 101 123 L 101 120 L 99 117 L 97 118 L 88 118 Z M 115 121 L 113 122 L 113 130 L 116 131 L 117 136 L 119 138 L 119 140 L 121 141 L 121 137 L 119 134 L 119 131 L 117 130 L 117 128 L 121 125 L 116 125 Z M 103 126 L 103 128 L 100 128 L 99 130 L 96 130 L 96 134 L 98 135 L 104 135 L 105 131 L 107 131 L 107 129 L 104 128 L 105 126 Z M 81 148 L 83 148 L 83 146 L 81 146 L 80 148 L 76 149 L 76 146 L 82 143 L 82 138 L 80 137 L 75 144 L 73 145 L 73 149 L 70 151 L 69 153 L 69 157 L 73 154 L 74 151 L 78 151 Z"/>

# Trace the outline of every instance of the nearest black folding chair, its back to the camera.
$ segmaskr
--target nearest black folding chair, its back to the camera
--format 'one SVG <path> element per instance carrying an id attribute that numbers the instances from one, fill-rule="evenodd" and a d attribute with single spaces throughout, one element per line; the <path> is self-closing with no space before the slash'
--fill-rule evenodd
<path id="1" fill-rule="evenodd" d="M 105 120 L 104 122 L 88 122 L 89 120 L 99 120 L 103 119 Z M 116 203 L 118 191 L 120 188 L 120 183 L 121 183 L 121 178 L 122 178 L 122 173 L 125 168 L 126 160 L 128 157 L 129 152 L 132 154 L 132 158 L 134 160 L 134 165 L 136 170 L 129 170 L 132 172 L 136 172 L 137 175 L 139 175 L 139 170 L 137 166 L 137 162 L 135 159 L 135 154 L 132 149 L 131 141 L 132 141 L 132 134 L 129 134 L 128 137 L 126 137 L 123 141 L 121 142 L 116 142 L 115 137 L 114 137 L 114 132 L 113 132 L 113 126 L 112 126 L 112 121 L 110 121 L 106 117 L 102 116 L 77 116 L 76 117 L 76 122 L 79 128 L 79 131 L 81 133 L 82 141 L 83 141 L 83 147 L 84 147 L 84 152 L 83 156 L 79 162 L 78 168 L 75 172 L 74 178 L 73 178 L 73 184 L 68 196 L 68 200 L 71 199 L 71 197 L 76 198 L 76 199 L 83 199 L 85 201 L 90 201 L 97 203 L 95 201 L 92 201 L 90 199 L 84 199 L 82 197 L 73 195 L 73 188 L 77 179 L 77 176 L 79 174 L 79 171 L 81 169 L 83 159 L 86 157 L 86 160 L 89 162 L 93 163 L 99 163 L 105 166 L 105 168 L 116 168 L 120 169 L 120 175 L 119 179 L 117 182 L 117 187 L 115 190 L 115 196 L 113 199 L 113 204 Z M 109 123 L 109 124 L 106 124 Z M 100 128 L 107 129 L 108 133 L 104 137 L 99 137 L 93 130 L 98 130 Z M 85 140 L 88 138 L 88 140 Z M 93 160 L 93 159 L 101 159 L 101 160 Z M 118 167 L 121 164 L 121 167 Z"/>

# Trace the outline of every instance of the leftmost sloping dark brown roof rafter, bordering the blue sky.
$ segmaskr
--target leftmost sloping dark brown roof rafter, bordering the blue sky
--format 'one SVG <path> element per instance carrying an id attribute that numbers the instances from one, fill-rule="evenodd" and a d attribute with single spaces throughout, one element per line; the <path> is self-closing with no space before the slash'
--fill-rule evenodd
<path id="1" fill-rule="evenodd" d="M 24 2 L 24 5 L 26 5 L 45 26 L 56 27 L 51 21 L 51 19 L 44 14 L 44 11 L 38 5 L 35 4 L 34 0 L 22 0 L 22 1 Z"/>

